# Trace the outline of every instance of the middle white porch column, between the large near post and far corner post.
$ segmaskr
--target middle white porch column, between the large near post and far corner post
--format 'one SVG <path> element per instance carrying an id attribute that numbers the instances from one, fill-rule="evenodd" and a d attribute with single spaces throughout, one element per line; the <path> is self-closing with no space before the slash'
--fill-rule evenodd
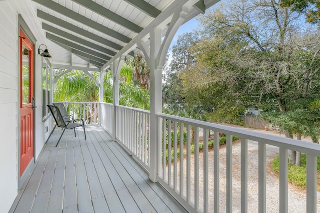
<path id="1" fill-rule="evenodd" d="M 112 110 L 112 140 L 116 140 L 116 106 L 119 105 L 119 79 L 120 79 L 120 71 L 122 64 L 124 62 L 124 56 L 121 56 L 119 59 L 115 60 L 111 64 L 111 72 L 112 72 L 112 89 L 113 89 L 113 110 Z"/>

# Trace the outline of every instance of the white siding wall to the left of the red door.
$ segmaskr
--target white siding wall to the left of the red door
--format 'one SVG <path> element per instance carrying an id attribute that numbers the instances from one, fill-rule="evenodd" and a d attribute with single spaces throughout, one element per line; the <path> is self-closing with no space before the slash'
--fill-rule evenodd
<path id="1" fill-rule="evenodd" d="M 0 1 L 0 212 L 8 212 L 17 195 L 17 15 Z"/>

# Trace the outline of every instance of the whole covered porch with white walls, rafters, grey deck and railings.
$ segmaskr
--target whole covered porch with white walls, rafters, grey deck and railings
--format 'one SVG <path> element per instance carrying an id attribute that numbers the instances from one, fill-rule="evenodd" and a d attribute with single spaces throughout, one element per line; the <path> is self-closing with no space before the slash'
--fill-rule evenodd
<path id="1" fill-rule="evenodd" d="M 279 150 L 279 197 L 277 203 L 272 204 L 277 212 L 293 212 L 288 191 L 288 150 L 306 154 L 307 183 L 301 205 L 306 213 L 319 212 L 318 144 L 162 113 L 162 68 L 169 44 L 181 24 L 205 12 L 217 1 L 2 1 L 0 21 L 8 29 L 1 37 L 5 51 L 0 60 L 6 64 L 5 73 L 8 73 L 2 74 L 3 82 L 7 79 L 10 82 L 1 88 L 0 106 L 3 112 L 8 112 L 0 128 L 5 136 L 1 159 L 5 162 L 3 165 L 8 165 L 8 168 L 3 167 L 6 176 L 1 179 L 4 198 L 1 205 L 5 205 L 5 212 L 18 194 L 9 212 L 246 213 L 257 212 L 251 209 L 251 204 L 255 203 L 258 212 L 265 213 L 270 205 L 266 181 L 267 146 Z M 22 20 L 25 25 L 19 23 Z M 18 39 L 23 38 L 18 38 L 17 31 L 23 27 L 35 34 L 32 49 L 36 52 L 29 51 L 34 55 L 34 104 L 37 108 L 33 108 L 32 102 L 35 136 L 29 162 L 31 169 L 23 173 L 26 181 L 19 173 L 18 99 L 21 91 L 17 82 L 20 74 L 12 71 L 19 67 Z M 37 54 L 42 44 L 47 45 L 51 61 L 44 62 Z M 119 105 L 121 65 L 139 50 L 143 51 L 150 68 L 150 111 Z M 81 113 L 85 119 L 87 140 L 80 130 L 76 137 L 72 132 L 65 132 L 56 148 L 58 136 L 53 135 L 44 143 L 53 123 L 46 110 L 46 105 L 53 101 L 53 81 L 57 80 L 50 72 L 53 68 L 63 69 L 61 75 L 74 69 L 89 76 L 91 72 L 99 72 L 99 80 L 94 80 L 100 94 L 98 102 L 65 103 L 70 106 L 68 110 Z M 102 102 L 102 79 L 109 71 L 113 80 L 112 104 Z M 58 130 L 54 132 L 59 133 Z M 216 143 L 220 133 L 226 138 L 223 165 L 220 164 L 219 143 Z M 209 155 L 210 135 L 214 141 L 210 148 L 212 155 Z M 201 141 L 199 136 L 202 136 Z M 239 137 L 239 154 L 232 152 L 232 136 Z M 248 173 L 248 156 L 252 155 L 248 141 L 254 141 L 257 146 L 255 181 Z M 234 172 L 235 155 L 240 159 L 238 173 Z M 225 176 L 220 176 L 219 170 L 223 170 Z M 240 180 L 238 189 L 233 188 L 236 178 Z M 255 194 L 248 192 L 251 184 L 256 186 Z M 235 200 L 240 200 L 238 206 L 234 205 Z"/>

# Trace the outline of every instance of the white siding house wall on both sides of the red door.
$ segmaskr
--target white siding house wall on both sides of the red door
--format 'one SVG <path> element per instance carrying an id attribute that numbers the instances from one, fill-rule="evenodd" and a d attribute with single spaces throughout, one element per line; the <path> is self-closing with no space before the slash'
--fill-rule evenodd
<path id="1" fill-rule="evenodd" d="M 18 14 L 22 16 L 37 42 L 45 44 L 44 32 L 36 20 L 36 8 L 31 0 L 0 0 L 0 213 L 9 211 L 18 193 Z M 35 54 L 35 135 L 34 157 L 44 144 L 42 123 L 41 57 Z"/>

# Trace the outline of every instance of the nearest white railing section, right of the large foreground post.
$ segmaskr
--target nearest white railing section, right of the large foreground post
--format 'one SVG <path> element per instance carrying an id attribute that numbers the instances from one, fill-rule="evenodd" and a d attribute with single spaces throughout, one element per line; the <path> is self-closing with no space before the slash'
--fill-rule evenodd
<path id="1" fill-rule="evenodd" d="M 248 201 L 256 202 L 259 213 L 266 212 L 266 145 L 279 148 L 279 198 L 278 209 L 280 213 L 288 212 L 288 152 L 295 150 L 305 153 L 307 156 L 307 187 L 306 187 L 306 212 L 315 213 L 316 210 L 316 156 L 320 156 L 320 146 L 310 142 L 302 142 L 274 135 L 248 131 L 241 128 L 233 128 L 207 122 L 185 119 L 166 114 L 157 114 L 161 123 L 162 145 L 157 155 L 161 156 L 158 164 L 158 181 L 190 212 L 257 212 L 248 209 Z M 209 155 L 208 132 L 213 133 L 213 141 L 219 141 L 220 133 L 226 135 L 225 164 L 219 164 L 219 143 L 213 143 L 213 155 Z M 181 134 L 185 132 L 186 136 Z M 203 137 L 203 151 L 199 153 L 199 135 Z M 232 162 L 232 136 L 238 136 L 241 140 L 240 172 L 232 174 L 234 162 Z M 192 138 L 194 142 L 192 143 Z M 258 147 L 258 180 L 256 183 L 257 198 L 248 198 L 248 184 L 251 180 L 248 174 L 248 140 L 257 142 Z M 168 143 L 171 141 L 171 143 Z M 185 141 L 184 144 L 181 143 Z M 179 143 L 178 143 L 179 142 Z M 194 147 L 194 154 L 191 149 Z M 210 151 L 212 152 L 212 151 Z M 167 153 L 167 155 L 166 155 Z M 184 154 L 182 154 L 184 153 Z M 153 153 L 152 153 L 153 154 Z M 201 158 L 200 158 L 201 156 Z M 167 162 L 172 162 L 167 164 Z M 233 164 L 233 167 L 232 167 Z M 169 166 L 168 166 L 169 165 Z M 209 168 L 212 168 L 212 170 Z M 225 178 L 220 179 L 221 170 Z M 240 176 L 240 189 L 234 189 L 232 181 Z M 221 183 L 223 186 L 220 187 Z M 240 190 L 240 191 L 239 191 Z M 240 199 L 236 209 L 234 197 Z M 221 203 L 223 206 L 221 206 Z M 250 204 L 251 205 L 251 204 Z"/>

